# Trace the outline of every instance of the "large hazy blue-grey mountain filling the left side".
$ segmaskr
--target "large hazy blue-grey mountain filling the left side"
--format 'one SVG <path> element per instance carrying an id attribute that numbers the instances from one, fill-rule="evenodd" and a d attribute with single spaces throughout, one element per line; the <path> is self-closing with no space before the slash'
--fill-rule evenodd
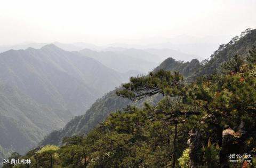
<path id="1" fill-rule="evenodd" d="M 0 156 L 24 153 L 134 75 L 53 44 L 0 53 Z"/>

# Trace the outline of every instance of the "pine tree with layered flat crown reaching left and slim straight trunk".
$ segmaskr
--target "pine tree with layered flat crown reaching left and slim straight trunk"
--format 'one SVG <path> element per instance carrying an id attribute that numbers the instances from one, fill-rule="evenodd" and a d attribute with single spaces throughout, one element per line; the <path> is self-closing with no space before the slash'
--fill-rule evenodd
<path id="1" fill-rule="evenodd" d="M 177 162 L 177 128 L 178 124 L 185 122 L 186 117 L 190 115 L 199 115 L 200 112 L 194 109 L 175 107 L 171 103 L 170 97 L 183 98 L 186 94 L 182 83 L 183 77 L 174 72 L 159 70 L 156 73 L 150 73 L 149 76 L 132 77 L 130 83 L 123 85 L 124 89 L 117 92 L 117 95 L 130 98 L 132 100 L 140 100 L 142 98 L 152 96 L 154 94 L 163 94 L 165 99 L 158 103 L 157 108 L 147 106 L 151 121 L 165 121 L 165 124 L 174 125 L 173 137 L 173 163 L 175 167 Z M 181 99 L 182 100 L 182 99 Z M 186 106 L 185 106 L 186 107 Z"/>

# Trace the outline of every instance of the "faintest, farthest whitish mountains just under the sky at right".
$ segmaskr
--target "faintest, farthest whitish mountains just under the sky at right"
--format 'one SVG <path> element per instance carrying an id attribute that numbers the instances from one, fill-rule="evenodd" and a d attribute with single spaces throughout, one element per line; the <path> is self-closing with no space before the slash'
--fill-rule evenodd
<path id="1" fill-rule="evenodd" d="M 106 45 L 106 47 L 123 47 L 135 49 L 170 49 L 177 52 L 197 55 L 193 59 L 203 60 L 209 58 L 210 55 L 218 49 L 220 44 L 227 43 L 231 36 L 205 36 L 195 37 L 190 35 L 179 35 L 174 37 L 150 37 L 142 38 L 133 41 L 126 41 L 124 43 L 113 43 Z M 138 45 L 140 44 L 140 45 Z M 169 55 L 170 57 L 170 55 Z M 176 60 L 179 60 L 175 58 Z M 183 61 L 190 61 L 191 58 L 181 59 Z"/>

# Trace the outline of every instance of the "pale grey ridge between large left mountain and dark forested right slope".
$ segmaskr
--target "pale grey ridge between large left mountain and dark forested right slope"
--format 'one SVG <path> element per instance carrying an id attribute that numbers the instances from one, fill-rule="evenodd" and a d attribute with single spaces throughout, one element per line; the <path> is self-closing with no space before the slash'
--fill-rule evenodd
<path id="1" fill-rule="evenodd" d="M 103 51 L 84 49 L 79 51 L 79 53 L 96 59 L 103 63 L 103 65 L 122 73 L 130 70 L 137 70 L 142 74 L 147 74 L 150 70 L 153 70 L 161 62 L 170 57 L 175 60 L 183 61 L 191 61 L 198 58 L 196 55 L 185 54 L 170 49 L 140 50 L 108 47 Z"/>

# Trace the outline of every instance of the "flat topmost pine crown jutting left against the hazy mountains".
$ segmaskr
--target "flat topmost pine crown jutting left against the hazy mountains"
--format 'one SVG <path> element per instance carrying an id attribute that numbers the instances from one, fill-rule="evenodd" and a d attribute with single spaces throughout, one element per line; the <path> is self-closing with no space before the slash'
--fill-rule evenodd
<path id="1" fill-rule="evenodd" d="M 183 76 L 177 71 L 159 70 L 150 72 L 149 76 L 131 77 L 130 83 L 123 84 L 124 89 L 116 92 L 117 95 L 140 100 L 155 94 L 177 95 L 182 91 Z"/>

